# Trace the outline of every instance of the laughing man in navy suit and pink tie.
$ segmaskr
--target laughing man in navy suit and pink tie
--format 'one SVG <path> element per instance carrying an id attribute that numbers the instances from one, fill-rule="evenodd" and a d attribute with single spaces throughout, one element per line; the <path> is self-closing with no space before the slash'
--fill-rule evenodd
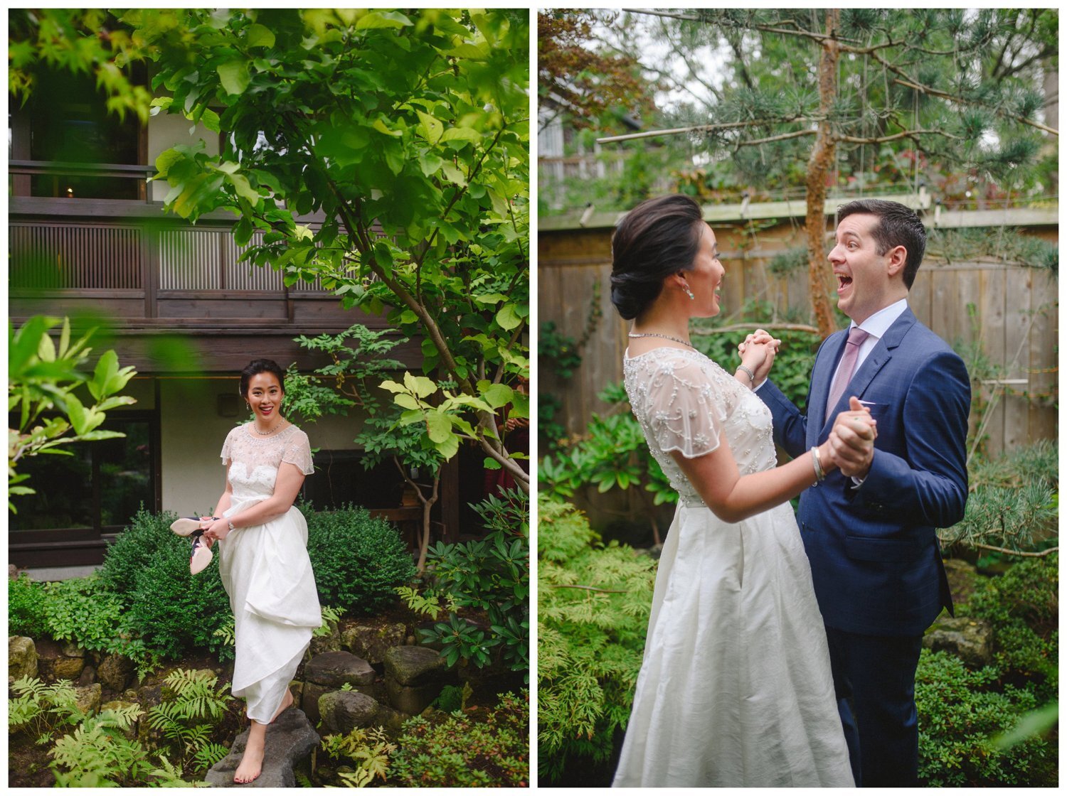
<path id="1" fill-rule="evenodd" d="M 805 491 L 797 521 L 856 783 L 907 786 L 918 779 L 923 632 L 953 610 L 935 529 L 964 516 L 971 390 L 962 360 L 908 309 L 926 247 L 919 216 L 861 199 L 838 218 L 829 259 L 851 324 L 818 350 L 807 416 L 769 381 L 757 394 L 794 457 L 827 438 L 851 395 L 877 421 L 866 466 Z"/>

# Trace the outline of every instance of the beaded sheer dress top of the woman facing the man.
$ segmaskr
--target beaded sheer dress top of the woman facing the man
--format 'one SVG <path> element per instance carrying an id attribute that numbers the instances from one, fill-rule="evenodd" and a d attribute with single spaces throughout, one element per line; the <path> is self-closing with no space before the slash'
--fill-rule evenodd
<path id="1" fill-rule="evenodd" d="M 704 502 L 671 451 L 696 458 L 724 438 L 742 475 L 775 467 L 770 410 L 700 352 L 662 346 L 626 355 L 622 370 L 649 450 L 686 505 Z"/>

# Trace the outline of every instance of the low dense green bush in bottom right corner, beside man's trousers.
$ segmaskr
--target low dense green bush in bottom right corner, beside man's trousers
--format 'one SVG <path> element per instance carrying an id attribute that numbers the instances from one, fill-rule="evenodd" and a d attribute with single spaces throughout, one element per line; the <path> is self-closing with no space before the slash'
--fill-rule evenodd
<path id="1" fill-rule="evenodd" d="M 919 778 L 933 787 L 1055 785 L 1055 752 L 1029 737 L 1001 750 L 996 737 L 1037 706 L 1033 693 L 993 691 L 998 671 L 970 671 L 947 652 L 923 650 L 915 673 Z"/>

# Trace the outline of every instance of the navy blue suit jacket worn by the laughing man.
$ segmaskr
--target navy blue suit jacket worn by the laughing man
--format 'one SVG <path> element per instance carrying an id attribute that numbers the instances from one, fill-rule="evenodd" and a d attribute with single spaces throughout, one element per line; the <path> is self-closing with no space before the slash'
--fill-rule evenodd
<path id="1" fill-rule="evenodd" d="M 878 421 L 863 485 L 840 471 L 805 490 L 797 522 L 827 627 L 870 635 L 921 635 L 952 596 L 935 529 L 964 516 L 971 387 L 964 361 L 910 309 L 889 327 L 825 417 L 846 331 L 819 346 L 808 407 L 812 421 L 771 383 L 775 442 L 794 458 L 825 441 L 848 396 L 871 402 Z"/>

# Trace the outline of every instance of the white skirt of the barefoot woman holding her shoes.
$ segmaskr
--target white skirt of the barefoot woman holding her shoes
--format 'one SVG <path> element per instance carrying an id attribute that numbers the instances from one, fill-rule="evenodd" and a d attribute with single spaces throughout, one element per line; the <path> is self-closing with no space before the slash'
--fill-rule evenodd
<path id="1" fill-rule="evenodd" d="M 265 498 L 235 502 L 232 516 Z M 307 522 L 296 507 L 261 525 L 232 531 L 219 542 L 219 573 L 234 611 L 233 694 L 248 700 L 249 718 L 268 724 L 282 704 L 322 623 Z"/>

